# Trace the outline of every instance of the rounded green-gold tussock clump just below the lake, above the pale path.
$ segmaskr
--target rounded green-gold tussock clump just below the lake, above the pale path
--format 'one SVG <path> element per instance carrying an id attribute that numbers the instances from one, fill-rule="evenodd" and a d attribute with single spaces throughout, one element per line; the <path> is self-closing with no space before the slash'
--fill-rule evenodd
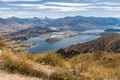
<path id="1" fill-rule="evenodd" d="M 35 57 L 35 61 L 38 63 L 51 66 L 64 66 L 65 62 L 65 60 L 56 53 L 44 53 L 41 55 L 37 55 Z"/>

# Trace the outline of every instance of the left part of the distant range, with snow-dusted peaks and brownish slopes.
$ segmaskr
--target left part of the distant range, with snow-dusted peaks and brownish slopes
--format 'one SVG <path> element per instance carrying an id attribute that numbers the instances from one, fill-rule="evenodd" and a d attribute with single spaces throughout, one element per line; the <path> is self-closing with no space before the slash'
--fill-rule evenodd
<path id="1" fill-rule="evenodd" d="M 0 33 L 11 33 L 19 30 L 32 28 L 36 26 L 44 26 L 50 22 L 51 19 L 45 18 L 40 19 L 37 17 L 34 18 L 0 18 Z"/>

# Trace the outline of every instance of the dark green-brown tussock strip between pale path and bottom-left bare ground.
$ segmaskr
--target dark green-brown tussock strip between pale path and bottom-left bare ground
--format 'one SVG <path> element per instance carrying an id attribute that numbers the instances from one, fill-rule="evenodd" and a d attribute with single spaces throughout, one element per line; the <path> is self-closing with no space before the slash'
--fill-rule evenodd
<path id="1" fill-rule="evenodd" d="M 46 77 L 47 75 L 40 70 L 34 69 L 33 65 L 24 60 L 15 60 L 6 56 L 0 68 L 10 73 L 20 73 L 34 77 Z"/>

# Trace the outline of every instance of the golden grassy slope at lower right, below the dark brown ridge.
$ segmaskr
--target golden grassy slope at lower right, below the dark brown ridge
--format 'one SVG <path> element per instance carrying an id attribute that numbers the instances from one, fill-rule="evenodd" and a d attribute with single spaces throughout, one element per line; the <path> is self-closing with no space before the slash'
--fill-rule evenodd
<path id="1" fill-rule="evenodd" d="M 120 54 L 97 51 L 69 59 L 74 70 L 91 80 L 119 80 Z"/>

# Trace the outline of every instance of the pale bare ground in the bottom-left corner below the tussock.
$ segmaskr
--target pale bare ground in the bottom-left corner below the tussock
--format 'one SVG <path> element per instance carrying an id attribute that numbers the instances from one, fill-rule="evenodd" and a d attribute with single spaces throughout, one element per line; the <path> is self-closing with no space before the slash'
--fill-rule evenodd
<path id="1" fill-rule="evenodd" d="M 0 80 L 42 80 L 42 79 L 0 71 Z"/>

